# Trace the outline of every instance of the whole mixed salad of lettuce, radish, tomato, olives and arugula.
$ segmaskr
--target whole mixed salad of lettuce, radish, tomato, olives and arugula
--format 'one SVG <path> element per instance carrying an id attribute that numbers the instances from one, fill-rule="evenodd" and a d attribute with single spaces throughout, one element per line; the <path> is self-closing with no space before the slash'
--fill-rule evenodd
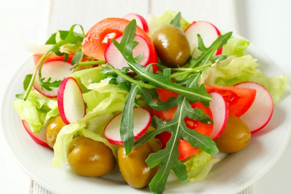
<path id="1" fill-rule="evenodd" d="M 80 28 L 80 30 L 75 30 Z M 207 177 L 218 152 L 244 149 L 270 121 L 286 75 L 267 77 L 247 40 L 181 13 L 106 18 L 32 46 L 34 71 L 12 106 L 53 167 L 120 173 L 162 194 Z"/>

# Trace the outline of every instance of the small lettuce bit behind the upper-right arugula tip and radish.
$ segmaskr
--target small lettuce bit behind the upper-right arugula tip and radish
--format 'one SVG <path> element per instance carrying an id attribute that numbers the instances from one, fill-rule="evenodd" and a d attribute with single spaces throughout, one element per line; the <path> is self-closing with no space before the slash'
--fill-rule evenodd
<path id="1" fill-rule="evenodd" d="M 236 55 L 237 57 L 241 57 L 244 55 L 243 51 L 249 45 L 250 45 L 249 41 L 232 36 L 223 46 L 222 54 L 226 56 Z"/>

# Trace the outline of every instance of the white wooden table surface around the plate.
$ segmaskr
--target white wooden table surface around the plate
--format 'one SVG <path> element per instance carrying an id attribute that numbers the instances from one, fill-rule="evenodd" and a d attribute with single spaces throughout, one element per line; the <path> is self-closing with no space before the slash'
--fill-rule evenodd
<path id="1" fill-rule="evenodd" d="M 287 0 L 0 0 L 0 101 L 9 88 L 7 82 L 29 57 L 23 44 L 43 44 L 50 33 L 67 30 L 75 23 L 88 29 L 106 17 L 127 13 L 160 16 L 167 9 L 250 39 L 291 78 L 290 6 Z M 27 194 L 30 178 L 17 165 L 1 130 L 0 148 L 0 193 Z M 256 194 L 290 193 L 290 165 L 291 144 L 275 166 L 254 183 Z"/>

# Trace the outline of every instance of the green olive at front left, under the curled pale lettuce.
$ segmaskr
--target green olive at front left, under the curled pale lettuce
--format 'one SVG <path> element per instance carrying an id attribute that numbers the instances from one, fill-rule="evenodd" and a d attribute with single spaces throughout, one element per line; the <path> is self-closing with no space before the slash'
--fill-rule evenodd
<path id="1" fill-rule="evenodd" d="M 108 146 L 84 136 L 70 142 L 67 156 L 71 169 L 85 177 L 100 177 L 116 166 L 115 157 Z"/>

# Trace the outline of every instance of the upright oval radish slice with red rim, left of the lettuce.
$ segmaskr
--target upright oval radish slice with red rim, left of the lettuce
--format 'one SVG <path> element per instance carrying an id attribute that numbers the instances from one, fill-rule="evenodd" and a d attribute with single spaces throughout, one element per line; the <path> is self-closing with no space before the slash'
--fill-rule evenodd
<path id="1" fill-rule="evenodd" d="M 66 125 L 77 122 L 85 116 L 85 102 L 81 88 L 74 78 L 65 78 L 58 91 L 58 107 Z"/>

